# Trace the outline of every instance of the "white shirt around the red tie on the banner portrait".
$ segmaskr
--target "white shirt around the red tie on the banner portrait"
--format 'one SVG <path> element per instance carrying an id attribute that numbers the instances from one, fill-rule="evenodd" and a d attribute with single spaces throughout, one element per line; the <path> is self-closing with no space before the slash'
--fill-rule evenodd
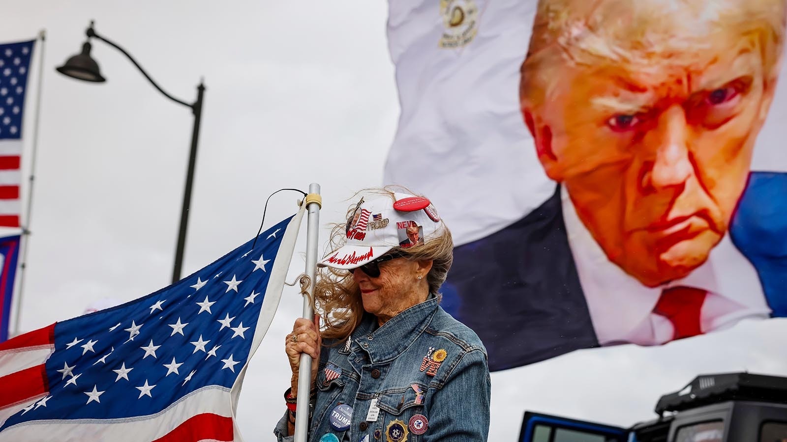
<path id="1" fill-rule="evenodd" d="M 651 288 L 608 260 L 579 219 L 565 187 L 560 197 L 568 244 L 599 344 L 654 345 L 671 341 L 672 322 L 653 313 L 653 308 L 663 289 L 678 285 L 708 292 L 700 310 L 703 333 L 722 330 L 745 318 L 770 317 L 757 271 L 736 249 L 729 234 L 688 276 Z"/>

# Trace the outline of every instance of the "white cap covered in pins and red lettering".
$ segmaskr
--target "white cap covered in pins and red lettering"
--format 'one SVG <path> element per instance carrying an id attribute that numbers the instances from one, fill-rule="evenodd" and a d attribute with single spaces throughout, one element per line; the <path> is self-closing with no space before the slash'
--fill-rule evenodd
<path id="1" fill-rule="evenodd" d="M 426 197 L 408 193 L 362 197 L 345 226 L 347 242 L 317 265 L 353 269 L 399 247 L 407 249 L 438 238 L 443 223 Z"/>

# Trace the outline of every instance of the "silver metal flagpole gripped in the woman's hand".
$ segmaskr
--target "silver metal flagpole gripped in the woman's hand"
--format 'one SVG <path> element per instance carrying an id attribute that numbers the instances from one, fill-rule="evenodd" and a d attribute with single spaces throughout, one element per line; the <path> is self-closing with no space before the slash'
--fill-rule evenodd
<path id="1" fill-rule="evenodd" d="M 306 230 L 306 275 L 309 277 L 309 297 L 303 298 L 303 317 L 314 318 L 314 282 L 317 273 L 317 242 L 320 237 L 320 185 L 309 184 L 306 195 L 306 210 L 309 211 L 309 227 Z M 309 429 L 309 395 L 312 391 L 312 356 L 301 353 L 301 365 L 297 378 L 297 406 L 295 408 L 295 442 L 306 442 Z"/>

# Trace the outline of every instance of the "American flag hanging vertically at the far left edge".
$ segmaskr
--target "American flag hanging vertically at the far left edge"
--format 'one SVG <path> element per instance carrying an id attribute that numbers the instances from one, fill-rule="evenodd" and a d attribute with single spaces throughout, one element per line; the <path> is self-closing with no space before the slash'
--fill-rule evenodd
<path id="1" fill-rule="evenodd" d="M 35 40 L 0 44 L 0 227 L 19 227 L 22 117 Z"/>

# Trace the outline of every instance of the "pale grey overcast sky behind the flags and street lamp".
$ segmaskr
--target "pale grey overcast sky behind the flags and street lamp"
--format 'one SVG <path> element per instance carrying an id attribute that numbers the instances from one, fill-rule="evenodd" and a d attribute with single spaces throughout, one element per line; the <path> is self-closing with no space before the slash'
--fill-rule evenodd
<path id="1" fill-rule="evenodd" d="M 324 225 L 340 220 L 355 190 L 381 184 L 398 116 L 386 7 L 382 0 L 4 5 L 0 42 L 47 32 L 22 330 L 80 315 L 105 297 L 142 297 L 168 285 L 172 273 L 192 117 L 102 42 L 93 55 L 107 83 L 57 74 L 91 19 L 170 94 L 193 101 L 205 77 L 185 275 L 253 237 L 275 190 L 319 182 Z M 33 83 L 28 94 L 31 112 Z M 274 197 L 266 224 L 291 215 L 296 199 Z M 305 223 L 288 279 L 302 271 L 304 250 Z M 296 290 L 286 288 L 246 374 L 238 404 L 245 440 L 272 440 L 290 380 L 281 343 L 300 311 Z M 496 373 L 490 440 L 516 440 L 525 410 L 625 426 L 654 418 L 659 396 L 696 374 L 787 375 L 785 348 L 787 320 L 771 319 Z"/>

